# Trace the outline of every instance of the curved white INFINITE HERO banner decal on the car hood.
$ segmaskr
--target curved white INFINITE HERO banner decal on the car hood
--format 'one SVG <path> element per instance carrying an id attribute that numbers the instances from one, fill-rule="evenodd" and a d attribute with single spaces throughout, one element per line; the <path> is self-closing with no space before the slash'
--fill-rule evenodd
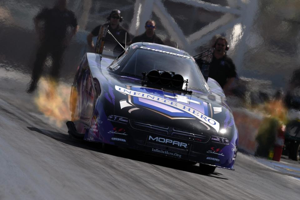
<path id="1" fill-rule="evenodd" d="M 179 110 L 183 110 L 191 115 L 193 115 L 194 117 L 198 118 L 199 120 L 201 120 L 202 122 L 210 125 L 212 128 L 214 128 L 217 132 L 219 131 L 220 128 L 220 124 L 219 122 L 217 122 L 216 120 L 202 114 L 201 112 L 199 112 L 198 110 L 195 110 L 187 105 L 183 105 L 181 103 L 178 102 L 174 102 L 174 101 L 170 101 L 170 100 L 166 100 L 164 98 L 161 98 L 159 96 L 155 96 L 155 95 L 151 95 L 151 94 L 147 94 L 147 93 L 143 93 L 143 92 L 137 92 L 134 90 L 129 90 L 129 89 L 125 89 L 123 87 L 117 86 L 115 85 L 115 89 L 123 94 L 127 94 L 127 95 L 132 95 L 132 96 L 136 96 L 136 97 L 140 97 L 140 98 L 144 98 L 144 99 L 149 99 L 149 100 L 153 100 L 156 102 L 160 102 L 169 106 L 172 106 L 174 108 L 177 108 Z"/>

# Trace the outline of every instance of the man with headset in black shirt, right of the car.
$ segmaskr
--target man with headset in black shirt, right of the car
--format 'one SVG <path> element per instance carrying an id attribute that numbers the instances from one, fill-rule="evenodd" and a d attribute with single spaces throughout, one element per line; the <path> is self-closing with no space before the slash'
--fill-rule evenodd
<path id="1" fill-rule="evenodd" d="M 216 80 L 226 92 L 234 79 L 237 78 L 235 65 L 232 59 L 226 55 L 226 51 L 229 50 L 226 38 L 217 37 L 212 47 L 215 48 L 215 51 L 213 52 L 208 77 Z"/>

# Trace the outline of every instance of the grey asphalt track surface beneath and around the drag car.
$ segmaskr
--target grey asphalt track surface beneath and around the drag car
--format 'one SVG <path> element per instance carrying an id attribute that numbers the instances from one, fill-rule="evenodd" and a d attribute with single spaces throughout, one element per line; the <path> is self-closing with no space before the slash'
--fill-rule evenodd
<path id="1" fill-rule="evenodd" d="M 28 81 L 0 69 L 1 200 L 300 198 L 300 176 L 246 154 L 237 154 L 235 171 L 204 175 L 197 164 L 72 139 L 37 110 Z"/>

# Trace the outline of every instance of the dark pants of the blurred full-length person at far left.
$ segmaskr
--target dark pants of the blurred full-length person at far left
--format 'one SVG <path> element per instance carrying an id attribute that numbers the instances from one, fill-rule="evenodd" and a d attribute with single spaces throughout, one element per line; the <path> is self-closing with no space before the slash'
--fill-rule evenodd
<path id="1" fill-rule="evenodd" d="M 37 81 L 40 79 L 43 72 L 44 62 L 49 54 L 51 55 L 53 60 L 52 68 L 50 71 L 50 77 L 53 80 L 58 81 L 59 78 L 58 75 L 63 61 L 62 58 L 63 58 L 64 50 L 65 50 L 65 46 L 63 46 L 62 43 L 57 43 L 57 42 L 41 43 L 41 46 L 37 50 L 37 56 L 32 70 L 32 76 L 31 76 L 32 83 L 36 84 Z"/>

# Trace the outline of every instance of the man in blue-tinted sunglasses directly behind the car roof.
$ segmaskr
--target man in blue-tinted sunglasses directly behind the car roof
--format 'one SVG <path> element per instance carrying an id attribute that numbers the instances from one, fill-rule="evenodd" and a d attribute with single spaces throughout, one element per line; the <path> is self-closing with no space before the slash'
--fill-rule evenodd
<path id="1" fill-rule="evenodd" d="M 150 42 L 156 44 L 164 44 L 163 41 L 155 34 L 155 22 L 153 20 L 148 20 L 145 24 L 146 31 L 139 36 L 133 38 L 131 43 L 135 42 Z"/>

